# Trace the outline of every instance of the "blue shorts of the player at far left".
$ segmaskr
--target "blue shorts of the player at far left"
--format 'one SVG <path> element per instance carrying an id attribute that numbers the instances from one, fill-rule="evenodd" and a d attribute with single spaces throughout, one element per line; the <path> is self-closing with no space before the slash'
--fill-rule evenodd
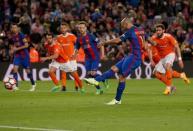
<path id="1" fill-rule="evenodd" d="M 14 57 L 13 65 L 22 66 L 23 68 L 27 69 L 30 68 L 30 58 L 29 57 Z"/>

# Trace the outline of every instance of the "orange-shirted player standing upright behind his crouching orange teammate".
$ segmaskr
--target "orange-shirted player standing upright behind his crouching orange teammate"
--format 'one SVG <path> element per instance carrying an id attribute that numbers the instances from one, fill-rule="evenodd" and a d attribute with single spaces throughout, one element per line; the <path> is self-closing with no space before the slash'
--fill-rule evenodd
<path id="1" fill-rule="evenodd" d="M 57 41 L 61 44 L 64 53 L 69 57 L 72 72 L 75 74 L 75 77 L 79 79 L 77 73 L 77 62 L 75 59 L 72 59 L 71 56 L 74 53 L 74 44 L 76 42 L 76 36 L 68 32 L 69 25 L 67 23 L 61 23 L 60 32 L 61 34 L 57 36 Z M 75 79 L 75 90 L 78 91 L 78 82 Z M 62 91 L 66 91 L 66 72 L 62 71 Z"/>

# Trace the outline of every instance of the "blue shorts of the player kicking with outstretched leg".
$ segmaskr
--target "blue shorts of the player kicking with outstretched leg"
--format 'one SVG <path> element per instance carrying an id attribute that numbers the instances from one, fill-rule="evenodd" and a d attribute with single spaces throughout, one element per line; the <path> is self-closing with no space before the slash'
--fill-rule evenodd
<path id="1" fill-rule="evenodd" d="M 129 56 L 125 56 L 122 60 L 115 64 L 115 66 L 119 69 L 119 74 L 127 77 L 133 71 L 135 71 L 135 69 L 138 68 L 141 63 L 142 61 L 140 58 L 137 58 L 131 54 Z"/>

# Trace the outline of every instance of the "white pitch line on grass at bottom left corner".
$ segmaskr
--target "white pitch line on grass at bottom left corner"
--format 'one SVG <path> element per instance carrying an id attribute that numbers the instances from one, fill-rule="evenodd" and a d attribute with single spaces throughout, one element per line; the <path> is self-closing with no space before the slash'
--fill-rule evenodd
<path id="1" fill-rule="evenodd" d="M 32 131 L 70 131 L 70 130 L 61 130 L 61 129 L 32 128 L 32 127 L 7 126 L 7 125 L 0 125 L 0 128 L 4 128 L 4 129 L 32 130 Z"/>

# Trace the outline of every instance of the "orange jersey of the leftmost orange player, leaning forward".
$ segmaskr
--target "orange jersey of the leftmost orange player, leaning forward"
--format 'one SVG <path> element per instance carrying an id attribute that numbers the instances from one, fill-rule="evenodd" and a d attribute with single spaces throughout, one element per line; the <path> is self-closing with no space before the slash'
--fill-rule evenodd
<path id="1" fill-rule="evenodd" d="M 55 42 L 53 45 L 46 44 L 45 47 L 49 55 L 53 55 L 53 54 L 59 55 L 58 58 L 55 59 L 55 61 L 59 63 L 65 63 L 69 60 L 68 56 L 65 55 L 64 50 L 57 42 Z"/>

